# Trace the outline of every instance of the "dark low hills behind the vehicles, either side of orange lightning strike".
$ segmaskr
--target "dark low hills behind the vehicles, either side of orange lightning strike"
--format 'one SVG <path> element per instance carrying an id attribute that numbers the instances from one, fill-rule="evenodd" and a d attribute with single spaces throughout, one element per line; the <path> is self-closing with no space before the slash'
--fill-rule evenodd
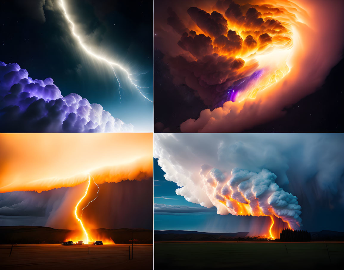
<path id="1" fill-rule="evenodd" d="M 111 238 L 116 244 L 152 244 L 153 232 L 148 229 L 95 229 L 94 234 Z M 40 226 L 0 226 L 0 244 L 60 244 L 76 231 Z"/>

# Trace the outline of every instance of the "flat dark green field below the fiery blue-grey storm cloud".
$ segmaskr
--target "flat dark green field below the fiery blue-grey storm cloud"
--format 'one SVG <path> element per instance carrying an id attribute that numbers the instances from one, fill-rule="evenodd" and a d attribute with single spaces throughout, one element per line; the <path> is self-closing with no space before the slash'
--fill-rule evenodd
<path id="1" fill-rule="evenodd" d="M 343 262 L 344 243 L 154 243 L 155 270 L 338 269 Z"/>

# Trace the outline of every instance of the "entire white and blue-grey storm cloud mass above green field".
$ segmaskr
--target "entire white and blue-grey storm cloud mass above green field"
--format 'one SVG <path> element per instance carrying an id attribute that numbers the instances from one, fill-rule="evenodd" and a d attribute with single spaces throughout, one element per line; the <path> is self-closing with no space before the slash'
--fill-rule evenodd
<path id="1" fill-rule="evenodd" d="M 165 179 L 180 187 L 176 194 L 216 206 L 218 214 L 273 215 L 299 229 L 301 206 L 294 195 L 343 201 L 341 134 L 154 136 L 154 157 Z"/>

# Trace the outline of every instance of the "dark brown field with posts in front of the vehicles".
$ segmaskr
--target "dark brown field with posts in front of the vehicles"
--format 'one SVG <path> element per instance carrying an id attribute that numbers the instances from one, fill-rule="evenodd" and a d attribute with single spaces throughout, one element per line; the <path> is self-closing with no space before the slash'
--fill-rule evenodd
<path id="1" fill-rule="evenodd" d="M 0 269 L 152 269 L 153 246 L 0 245 Z M 131 258 L 131 245 L 130 245 Z"/>

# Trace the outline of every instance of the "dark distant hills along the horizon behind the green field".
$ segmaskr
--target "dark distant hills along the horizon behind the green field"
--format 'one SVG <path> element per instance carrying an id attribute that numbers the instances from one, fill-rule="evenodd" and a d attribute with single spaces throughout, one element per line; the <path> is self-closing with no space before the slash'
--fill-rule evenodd
<path id="1" fill-rule="evenodd" d="M 249 233 L 206 233 L 189 230 L 154 230 L 154 241 L 259 241 L 266 240 L 250 237 Z M 344 232 L 322 230 L 311 232 L 311 241 L 344 241 Z"/>

